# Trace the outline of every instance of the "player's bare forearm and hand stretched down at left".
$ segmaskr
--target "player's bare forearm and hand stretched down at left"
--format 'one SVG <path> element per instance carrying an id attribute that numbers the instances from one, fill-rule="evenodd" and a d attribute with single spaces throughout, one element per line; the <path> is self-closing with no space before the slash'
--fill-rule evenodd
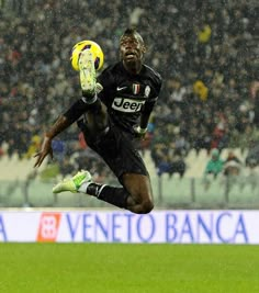
<path id="1" fill-rule="evenodd" d="M 65 131 L 68 126 L 70 126 L 72 122 L 74 121 L 70 121 L 66 116 L 61 115 L 57 119 L 52 128 L 48 132 L 46 132 L 43 138 L 41 150 L 36 153 L 34 156 L 34 158 L 36 158 L 34 168 L 40 167 L 47 155 L 49 155 L 53 158 L 53 148 L 52 148 L 53 138 L 63 131 Z"/>

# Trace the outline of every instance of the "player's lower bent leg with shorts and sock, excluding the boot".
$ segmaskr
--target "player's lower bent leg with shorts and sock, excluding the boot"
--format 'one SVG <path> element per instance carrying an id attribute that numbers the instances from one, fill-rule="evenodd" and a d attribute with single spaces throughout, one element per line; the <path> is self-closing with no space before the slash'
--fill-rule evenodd
<path id="1" fill-rule="evenodd" d="M 122 187 L 105 185 L 99 189 L 90 184 L 81 191 L 134 213 L 149 213 L 154 207 L 151 184 L 134 136 L 122 132 L 113 123 L 109 126 L 109 132 L 95 144 L 89 142 L 89 146 L 105 160 Z"/>

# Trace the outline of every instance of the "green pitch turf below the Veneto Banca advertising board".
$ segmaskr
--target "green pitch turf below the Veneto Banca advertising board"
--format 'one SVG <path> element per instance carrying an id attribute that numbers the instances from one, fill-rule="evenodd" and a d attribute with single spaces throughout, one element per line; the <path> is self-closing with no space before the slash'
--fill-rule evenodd
<path id="1" fill-rule="evenodd" d="M 1 244 L 1 293 L 256 293 L 259 246 Z"/>

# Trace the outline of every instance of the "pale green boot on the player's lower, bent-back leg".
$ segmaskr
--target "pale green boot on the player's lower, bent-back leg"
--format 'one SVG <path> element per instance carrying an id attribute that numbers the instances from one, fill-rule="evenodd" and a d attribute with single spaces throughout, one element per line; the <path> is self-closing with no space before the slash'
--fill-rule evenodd
<path id="1" fill-rule="evenodd" d="M 88 171 L 81 170 L 71 179 L 65 179 L 64 181 L 57 183 L 53 188 L 53 193 L 59 193 L 64 191 L 78 192 L 81 184 L 86 182 L 92 182 L 92 177 Z"/>

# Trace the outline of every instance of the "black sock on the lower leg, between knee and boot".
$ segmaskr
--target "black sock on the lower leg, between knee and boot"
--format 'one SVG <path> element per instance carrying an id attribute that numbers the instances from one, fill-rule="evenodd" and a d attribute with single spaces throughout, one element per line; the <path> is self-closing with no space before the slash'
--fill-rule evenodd
<path id="1" fill-rule="evenodd" d="M 126 209 L 127 198 L 130 195 L 124 188 L 115 188 L 98 183 L 90 183 L 87 188 L 87 193 L 122 209 Z"/>

